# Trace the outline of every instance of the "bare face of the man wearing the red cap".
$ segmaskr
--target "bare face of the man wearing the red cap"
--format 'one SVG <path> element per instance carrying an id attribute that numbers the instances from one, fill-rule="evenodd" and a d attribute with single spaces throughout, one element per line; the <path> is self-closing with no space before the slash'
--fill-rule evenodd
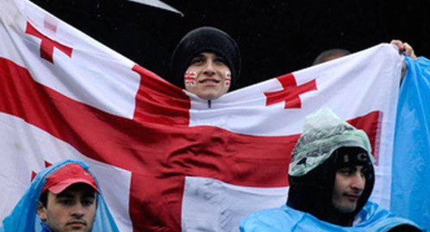
<path id="1" fill-rule="evenodd" d="M 73 184 L 59 194 L 48 192 L 46 206 L 37 215 L 54 232 L 89 232 L 96 217 L 96 191 L 88 184 Z"/>

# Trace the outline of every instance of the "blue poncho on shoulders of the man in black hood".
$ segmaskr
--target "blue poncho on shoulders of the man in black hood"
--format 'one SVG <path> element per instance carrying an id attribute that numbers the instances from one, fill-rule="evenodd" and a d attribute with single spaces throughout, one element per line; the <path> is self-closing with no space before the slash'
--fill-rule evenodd
<path id="1" fill-rule="evenodd" d="M 354 226 L 338 226 L 322 220 L 318 220 L 309 213 L 304 213 L 281 206 L 277 209 L 258 211 L 240 222 L 241 232 L 382 232 L 388 231 L 394 226 L 407 224 L 416 226 L 410 220 L 399 218 L 393 213 L 380 208 L 378 204 L 367 202 L 363 209 L 356 215 Z"/>

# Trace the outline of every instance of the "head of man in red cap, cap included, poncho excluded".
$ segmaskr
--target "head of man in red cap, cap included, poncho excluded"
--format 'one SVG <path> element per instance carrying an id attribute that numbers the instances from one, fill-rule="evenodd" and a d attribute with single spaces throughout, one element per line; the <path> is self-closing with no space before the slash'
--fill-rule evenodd
<path id="1" fill-rule="evenodd" d="M 43 229 L 91 231 L 99 193 L 94 177 L 79 164 L 59 168 L 46 178 L 37 207 Z"/>

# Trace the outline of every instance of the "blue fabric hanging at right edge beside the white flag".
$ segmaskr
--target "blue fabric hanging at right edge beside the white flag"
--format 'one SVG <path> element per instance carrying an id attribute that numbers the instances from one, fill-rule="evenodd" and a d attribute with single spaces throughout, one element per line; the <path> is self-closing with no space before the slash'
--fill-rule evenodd
<path id="1" fill-rule="evenodd" d="M 406 57 L 393 149 L 391 211 L 430 230 L 430 61 Z"/>

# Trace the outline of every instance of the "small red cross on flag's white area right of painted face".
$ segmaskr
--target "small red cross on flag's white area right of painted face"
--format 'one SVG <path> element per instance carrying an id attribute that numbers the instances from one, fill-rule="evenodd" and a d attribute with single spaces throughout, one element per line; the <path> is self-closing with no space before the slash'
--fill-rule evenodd
<path id="1" fill-rule="evenodd" d="M 277 79 L 280 84 L 282 84 L 283 90 L 265 92 L 264 94 L 267 97 L 266 106 L 285 101 L 284 108 L 300 108 L 302 104 L 298 95 L 311 90 L 317 90 L 315 79 L 300 86 L 297 86 L 296 79 L 291 73 L 278 77 Z"/>

